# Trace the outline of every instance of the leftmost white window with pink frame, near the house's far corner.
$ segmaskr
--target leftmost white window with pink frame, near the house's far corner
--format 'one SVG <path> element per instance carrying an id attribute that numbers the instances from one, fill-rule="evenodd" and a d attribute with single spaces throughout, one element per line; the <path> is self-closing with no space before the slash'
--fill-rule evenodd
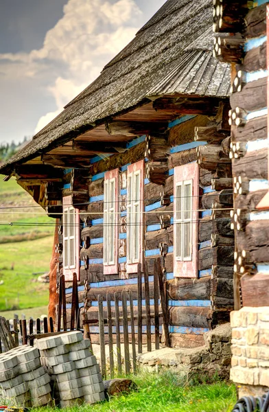
<path id="1" fill-rule="evenodd" d="M 71 196 L 63 198 L 63 266 L 65 280 L 73 280 L 73 273 L 80 277 L 80 216 L 71 205 Z"/>

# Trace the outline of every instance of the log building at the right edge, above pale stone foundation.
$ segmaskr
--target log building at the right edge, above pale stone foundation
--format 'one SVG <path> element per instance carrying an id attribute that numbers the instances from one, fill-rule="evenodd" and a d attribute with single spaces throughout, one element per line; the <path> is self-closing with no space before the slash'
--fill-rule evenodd
<path id="1" fill-rule="evenodd" d="M 214 54 L 232 67 L 236 310 L 268 306 L 269 298 L 268 4 L 223 0 L 220 8 L 220 1 L 214 0 Z"/>

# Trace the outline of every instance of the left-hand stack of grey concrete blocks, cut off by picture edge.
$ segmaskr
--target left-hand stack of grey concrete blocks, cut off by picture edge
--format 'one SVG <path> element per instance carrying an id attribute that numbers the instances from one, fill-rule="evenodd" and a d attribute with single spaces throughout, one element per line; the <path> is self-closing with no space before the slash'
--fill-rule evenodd
<path id="1" fill-rule="evenodd" d="M 49 375 L 38 350 L 23 345 L 0 355 L 1 397 L 19 407 L 40 407 L 51 402 Z"/>

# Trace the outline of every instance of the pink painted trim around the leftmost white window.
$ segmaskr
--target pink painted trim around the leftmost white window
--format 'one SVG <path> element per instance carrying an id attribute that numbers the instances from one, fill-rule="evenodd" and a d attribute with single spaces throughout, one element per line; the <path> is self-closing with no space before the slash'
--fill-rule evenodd
<path id="1" fill-rule="evenodd" d="M 71 207 L 72 196 L 65 196 L 62 198 L 62 211 Z M 73 273 L 76 273 L 78 280 L 80 280 L 80 210 L 75 209 L 75 268 L 68 269 L 63 268 L 63 274 L 65 275 L 65 282 L 73 280 Z M 63 262 L 65 262 L 65 242 L 63 241 Z"/>

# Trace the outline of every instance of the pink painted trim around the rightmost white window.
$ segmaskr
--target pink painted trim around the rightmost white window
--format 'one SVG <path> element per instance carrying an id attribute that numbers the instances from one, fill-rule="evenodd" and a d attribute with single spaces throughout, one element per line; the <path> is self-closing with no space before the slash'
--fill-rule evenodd
<path id="1" fill-rule="evenodd" d="M 199 169 L 197 163 L 174 168 L 174 196 L 176 196 L 176 183 L 180 181 L 193 181 L 192 198 L 192 260 L 176 260 L 176 224 L 174 222 L 174 277 L 198 277 L 198 209 L 199 209 Z M 174 201 L 174 216 L 176 214 L 176 201 Z"/>

